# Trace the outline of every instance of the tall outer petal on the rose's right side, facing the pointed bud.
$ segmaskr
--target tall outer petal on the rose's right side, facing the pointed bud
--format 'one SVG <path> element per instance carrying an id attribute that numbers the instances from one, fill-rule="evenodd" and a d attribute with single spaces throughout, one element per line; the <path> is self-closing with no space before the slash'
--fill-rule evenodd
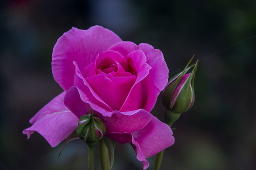
<path id="1" fill-rule="evenodd" d="M 141 43 L 138 45 L 138 49 L 142 50 L 146 55 L 146 63 L 152 68 L 149 71 L 148 76 L 141 81 L 142 86 L 147 89 L 145 97 L 147 102 L 143 108 L 147 111 L 151 111 L 157 99 L 159 93 L 165 88 L 168 82 L 168 68 L 163 56 L 163 53 L 154 49 L 153 46 Z"/>

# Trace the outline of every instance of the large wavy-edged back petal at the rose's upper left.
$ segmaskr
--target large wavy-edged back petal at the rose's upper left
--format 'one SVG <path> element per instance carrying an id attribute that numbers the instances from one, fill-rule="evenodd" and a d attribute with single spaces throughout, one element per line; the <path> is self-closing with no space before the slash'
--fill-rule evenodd
<path id="1" fill-rule="evenodd" d="M 97 57 L 98 53 L 106 51 L 120 41 L 118 35 L 101 26 L 92 26 L 88 30 L 73 27 L 64 33 L 54 46 L 52 71 L 55 81 L 64 91 L 68 90 L 73 86 L 73 61 L 83 69 Z"/>

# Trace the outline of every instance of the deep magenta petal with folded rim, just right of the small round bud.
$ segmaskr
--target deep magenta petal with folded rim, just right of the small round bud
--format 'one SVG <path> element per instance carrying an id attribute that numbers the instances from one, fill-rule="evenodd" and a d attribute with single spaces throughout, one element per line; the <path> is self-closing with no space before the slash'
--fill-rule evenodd
<path id="1" fill-rule="evenodd" d="M 125 115 L 131 114 L 132 115 Z M 111 117 L 105 118 L 107 132 L 132 133 L 145 127 L 152 119 L 152 114 L 144 109 L 134 110 L 129 113 L 113 111 Z"/>

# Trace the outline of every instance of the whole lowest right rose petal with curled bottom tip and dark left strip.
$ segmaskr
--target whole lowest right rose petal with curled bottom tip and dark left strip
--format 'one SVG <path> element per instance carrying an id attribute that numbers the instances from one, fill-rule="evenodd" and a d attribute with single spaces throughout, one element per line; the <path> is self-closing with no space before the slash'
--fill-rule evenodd
<path id="1" fill-rule="evenodd" d="M 106 132 L 105 135 L 122 144 L 131 143 L 137 154 L 137 159 L 143 164 L 143 170 L 146 170 L 149 166 L 146 161 L 147 157 L 153 156 L 174 144 L 171 128 L 155 117 L 146 127 L 136 132 Z"/>

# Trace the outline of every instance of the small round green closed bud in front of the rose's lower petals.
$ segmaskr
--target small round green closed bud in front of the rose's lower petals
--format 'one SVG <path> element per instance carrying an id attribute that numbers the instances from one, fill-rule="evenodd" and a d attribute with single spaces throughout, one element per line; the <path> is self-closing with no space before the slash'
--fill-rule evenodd
<path id="1" fill-rule="evenodd" d="M 82 115 L 78 121 L 76 133 L 86 144 L 93 146 L 105 135 L 106 127 L 100 118 L 89 115 Z"/>

